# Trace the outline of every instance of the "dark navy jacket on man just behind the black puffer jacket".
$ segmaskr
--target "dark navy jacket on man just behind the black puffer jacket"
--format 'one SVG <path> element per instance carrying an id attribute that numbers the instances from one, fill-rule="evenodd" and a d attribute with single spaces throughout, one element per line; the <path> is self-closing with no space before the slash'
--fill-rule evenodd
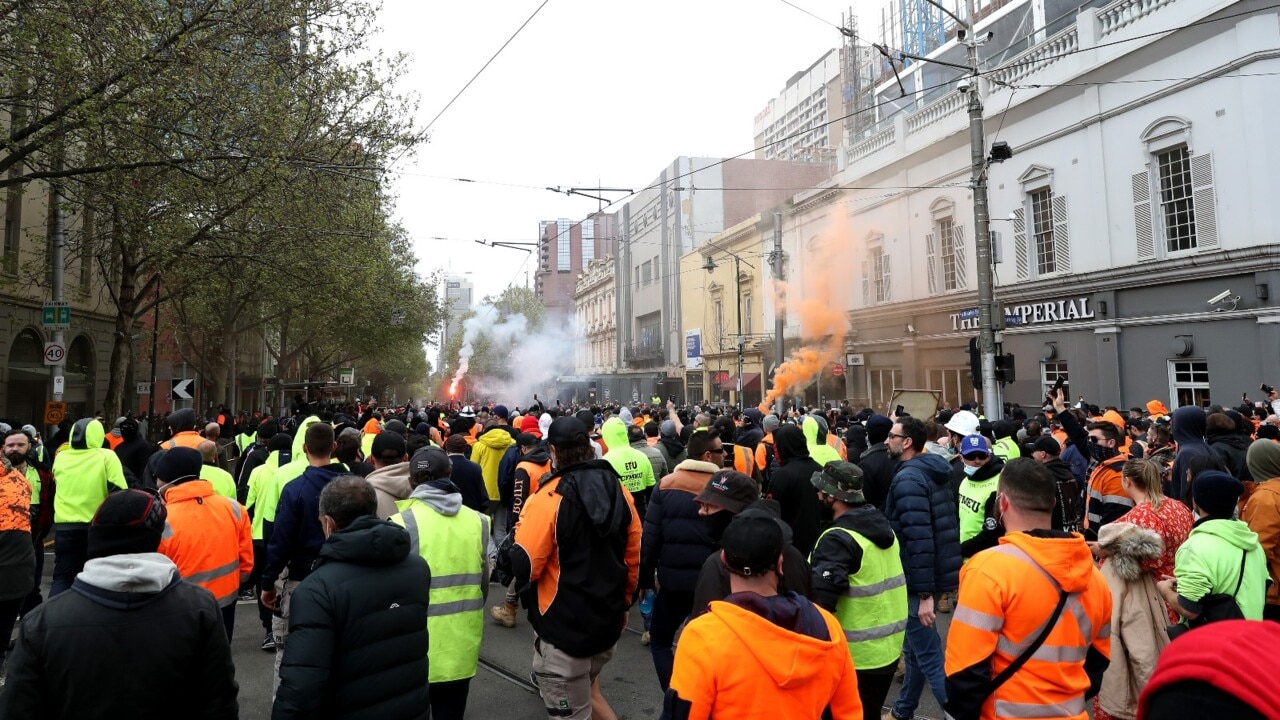
<path id="1" fill-rule="evenodd" d="M 320 557 L 324 530 L 320 529 L 320 491 L 329 480 L 346 475 L 342 465 L 307 468 L 296 480 L 284 486 L 275 507 L 275 524 L 266 546 L 266 569 L 262 587 L 270 587 L 285 568 L 291 580 L 311 574 L 311 565 Z"/>

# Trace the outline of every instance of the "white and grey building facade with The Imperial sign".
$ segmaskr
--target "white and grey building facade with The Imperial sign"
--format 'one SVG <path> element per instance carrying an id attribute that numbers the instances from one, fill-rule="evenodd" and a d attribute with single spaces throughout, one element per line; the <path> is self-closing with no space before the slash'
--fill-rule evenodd
<path id="1" fill-rule="evenodd" d="M 1020 47 L 980 81 L 988 145 L 1014 150 L 988 168 L 997 340 L 1015 357 L 1004 400 L 1039 406 L 1059 375 L 1100 405 L 1257 396 L 1280 366 L 1280 145 L 1257 122 L 1276 102 L 1277 12 L 1114 0 L 1064 20 L 1037 3 L 995 8 L 978 27 Z M 1037 14 L 1046 26 L 1001 38 L 1006 18 Z M 855 229 L 846 347 L 859 370 L 846 391 L 877 409 L 895 388 L 979 397 L 966 99 L 951 83 L 924 102 L 927 65 L 902 78 L 914 102 L 887 111 L 837 182 L 788 215 L 788 252 L 832 215 Z"/>

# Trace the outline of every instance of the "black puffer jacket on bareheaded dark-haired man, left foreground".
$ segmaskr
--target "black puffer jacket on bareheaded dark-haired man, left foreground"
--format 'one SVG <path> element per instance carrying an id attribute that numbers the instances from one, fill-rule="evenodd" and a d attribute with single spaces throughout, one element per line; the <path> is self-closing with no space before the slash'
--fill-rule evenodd
<path id="1" fill-rule="evenodd" d="M 271 717 L 426 717 L 431 571 L 408 533 L 357 518 L 293 591 Z"/>

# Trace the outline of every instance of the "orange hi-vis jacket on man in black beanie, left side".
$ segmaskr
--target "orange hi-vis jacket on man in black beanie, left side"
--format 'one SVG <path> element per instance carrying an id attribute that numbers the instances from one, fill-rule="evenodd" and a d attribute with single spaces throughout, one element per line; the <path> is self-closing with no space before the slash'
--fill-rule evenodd
<path id="1" fill-rule="evenodd" d="M 164 491 L 169 519 L 159 552 L 182 579 L 214 593 L 218 605 L 236 602 L 241 582 L 253 571 L 248 512 L 214 492 L 207 480 L 187 480 Z"/>

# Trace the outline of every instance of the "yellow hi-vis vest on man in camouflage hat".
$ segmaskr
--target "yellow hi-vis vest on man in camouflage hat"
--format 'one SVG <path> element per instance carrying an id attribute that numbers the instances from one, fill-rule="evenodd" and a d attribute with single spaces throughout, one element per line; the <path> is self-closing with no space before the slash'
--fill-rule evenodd
<path id="1" fill-rule="evenodd" d="M 897 539 L 882 550 L 847 528 L 827 532 L 847 533 L 863 551 L 861 566 L 849 575 L 849 589 L 836 601 L 836 619 L 845 630 L 854 665 L 859 670 L 892 665 L 902 655 L 906 633 L 906 575 Z"/>

